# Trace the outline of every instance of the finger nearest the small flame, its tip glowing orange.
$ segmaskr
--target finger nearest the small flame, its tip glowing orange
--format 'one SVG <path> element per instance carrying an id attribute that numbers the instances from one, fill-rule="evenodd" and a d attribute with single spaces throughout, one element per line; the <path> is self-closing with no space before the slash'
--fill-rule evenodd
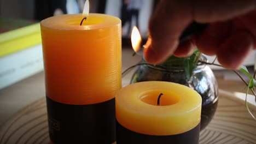
<path id="1" fill-rule="evenodd" d="M 173 1 L 161 1 L 149 22 L 152 43 L 144 50 L 146 61 L 152 64 L 164 62 L 176 49 L 179 36 L 191 22 L 188 5 Z"/>

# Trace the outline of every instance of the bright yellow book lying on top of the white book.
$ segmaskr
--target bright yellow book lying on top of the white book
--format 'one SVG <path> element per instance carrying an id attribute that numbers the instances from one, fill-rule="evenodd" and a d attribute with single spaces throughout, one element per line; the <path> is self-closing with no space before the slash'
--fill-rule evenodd
<path id="1" fill-rule="evenodd" d="M 0 57 L 41 43 L 40 23 L 0 34 Z"/>

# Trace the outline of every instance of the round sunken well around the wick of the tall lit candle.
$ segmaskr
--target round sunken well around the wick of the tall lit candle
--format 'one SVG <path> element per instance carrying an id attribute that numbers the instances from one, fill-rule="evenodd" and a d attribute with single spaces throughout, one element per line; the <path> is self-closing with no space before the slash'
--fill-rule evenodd
<path id="1" fill-rule="evenodd" d="M 84 16 L 86 17 L 86 16 Z M 75 26 L 79 26 L 80 22 L 84 19 L 84 17 L 81 16 L 77 16 L 77 17 L 72 17 L 72 19 L 66 20 L 67 23 L 69 23 L 70 25 L 75 25 Z M 86 20 L 83 21 L 82 26 L 89 26 L 89 25 L 96 25 L 99 23 L 104 22 L 105 20 L 103 19 L 103 17 L 98 17 L 98 16 L 94 16 L 94 17 L 86 17 Z"/>

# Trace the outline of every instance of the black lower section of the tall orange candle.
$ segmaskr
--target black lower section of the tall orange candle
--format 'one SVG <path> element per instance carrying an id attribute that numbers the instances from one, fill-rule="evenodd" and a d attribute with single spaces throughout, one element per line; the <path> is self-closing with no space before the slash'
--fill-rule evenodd
<path id="1" fill-rule="evenodd" d="M 113 143 L 115 99 L 91 105 L 61 104 L 46 97 L 50 139 L 54 143 Z"/>

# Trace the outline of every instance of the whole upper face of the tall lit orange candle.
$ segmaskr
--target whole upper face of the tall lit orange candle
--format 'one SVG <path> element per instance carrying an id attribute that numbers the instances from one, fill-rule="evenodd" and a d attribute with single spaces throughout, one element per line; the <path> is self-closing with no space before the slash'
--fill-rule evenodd
<path id="1" fill-rule="evenodd" d="M 113 25 L 120 25 L 118 17 L 106 14 L 66 14 L 48 17 L 40 22 L 46 28 L 59 30 L 89 30 L 107 28 Z M 80 26 L 80 22 L 86 17 Z"/>

